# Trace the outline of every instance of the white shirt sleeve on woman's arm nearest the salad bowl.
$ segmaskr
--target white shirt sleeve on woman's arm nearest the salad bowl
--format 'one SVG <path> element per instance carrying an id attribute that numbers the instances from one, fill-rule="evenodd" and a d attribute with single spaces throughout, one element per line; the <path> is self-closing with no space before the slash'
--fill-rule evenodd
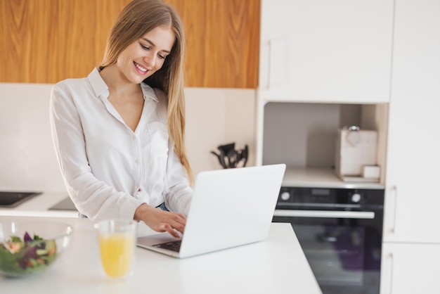
<path id="1" fill-rule="evenodd" d="M 50 104 L 53 144 L 67 192 L 79 212 L 92 220 L 132 218 L 142 202 L 116 191 L 92 173 L 86 155 L 83 122 L 73 96 L 90 97 L 82 79 L 70 83 L 69 87 L 66 84 L 53 87 Z"/>

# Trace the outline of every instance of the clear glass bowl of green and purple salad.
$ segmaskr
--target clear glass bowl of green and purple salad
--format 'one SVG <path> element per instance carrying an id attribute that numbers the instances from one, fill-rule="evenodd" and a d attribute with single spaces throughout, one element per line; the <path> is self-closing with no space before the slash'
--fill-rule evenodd
<path id="1" fill-rule="evenodd" d="M 44 271 L 67 248 L 72 232 L 72 226 L 61 222 L 0 222 L 0 275 Z"/>

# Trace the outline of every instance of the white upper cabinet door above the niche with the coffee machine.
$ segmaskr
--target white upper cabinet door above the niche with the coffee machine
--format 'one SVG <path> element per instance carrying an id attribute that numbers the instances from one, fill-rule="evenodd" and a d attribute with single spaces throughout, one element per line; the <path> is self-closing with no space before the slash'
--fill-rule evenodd
<path id="1" fill-rule="evenodd" d="M 389 101 L 392 0 L 262 0 L 260 97 Z"/>

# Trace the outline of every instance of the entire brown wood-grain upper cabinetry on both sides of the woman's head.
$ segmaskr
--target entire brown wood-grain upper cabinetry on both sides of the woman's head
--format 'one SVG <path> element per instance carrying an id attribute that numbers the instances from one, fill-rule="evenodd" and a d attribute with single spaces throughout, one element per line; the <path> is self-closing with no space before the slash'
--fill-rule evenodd
<path id="1" fill-rule="evenodd" d="M 167 0 L 186 27 L 186 87 L 257 88 L 259 0 Z M 55 83 L 97 66 L 129 0 L 0 1 L 0 82 Z"/>

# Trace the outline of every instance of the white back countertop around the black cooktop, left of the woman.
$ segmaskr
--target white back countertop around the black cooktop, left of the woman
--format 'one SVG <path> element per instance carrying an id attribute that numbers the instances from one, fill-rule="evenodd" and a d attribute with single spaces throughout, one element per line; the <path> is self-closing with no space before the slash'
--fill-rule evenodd
<path id="1" fill-rule="evenodd" d="M 16 207 L 0 207 L 0 216 L 20 217 L 78 217 L 75 210 L 49 210 L 56 203 L 69 197 L 67 192 L 43 192 Z"/>

